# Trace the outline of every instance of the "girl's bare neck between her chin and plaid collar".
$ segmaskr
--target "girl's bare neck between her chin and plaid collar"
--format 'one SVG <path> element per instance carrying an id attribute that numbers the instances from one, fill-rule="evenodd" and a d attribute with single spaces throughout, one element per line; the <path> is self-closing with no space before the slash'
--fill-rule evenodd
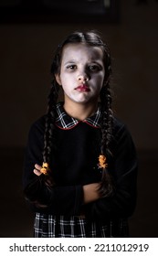
<path id="1" fill-rule="evenodd" d="M 64 109 L 68 113 L 69 116 L 78 119 L 79 121 L 83 121 L 86 118 L 90 117 L 97 111 L 98 102 L 90 102 L 90 103 L 78 103 L 75 101 L 72 102 L 64 102 Z"/>

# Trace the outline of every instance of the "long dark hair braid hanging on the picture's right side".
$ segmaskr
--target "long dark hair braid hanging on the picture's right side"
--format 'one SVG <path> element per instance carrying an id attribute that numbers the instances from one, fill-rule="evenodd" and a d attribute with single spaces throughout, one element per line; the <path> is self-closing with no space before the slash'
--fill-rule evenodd
<path id="1" fill-rule="evenodd" d="M 101 142 L 100 142 L 100 154 L 106 155 L 109 159 L 111 156 L 111 137 L 112 137 L 112 121 L 113 113 L 111 109 L 111 53 L 107 45 L 104 45 L 104 67 L 105 78 L 104 84 L 100 91 L 100 107 L 101 107 Z M 111 175 L 109 174 L 108 167 L 102 168 L 102 178 L 100 183 L 100 193 L 103 197 L 108 197 L 113 192 L 113 184 Z"/>

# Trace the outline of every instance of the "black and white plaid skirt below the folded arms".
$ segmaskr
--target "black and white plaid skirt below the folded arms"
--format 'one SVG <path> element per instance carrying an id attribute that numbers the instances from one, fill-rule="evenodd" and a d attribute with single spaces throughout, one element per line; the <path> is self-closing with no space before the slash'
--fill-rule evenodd
<path id="1" fill-rule="evenodd" d="M 79 216 L 52 216 L 37 213 L 35 238 L 114 238 L 129 237 L 127 219 L 111 219 L 106 224 Z"/>

